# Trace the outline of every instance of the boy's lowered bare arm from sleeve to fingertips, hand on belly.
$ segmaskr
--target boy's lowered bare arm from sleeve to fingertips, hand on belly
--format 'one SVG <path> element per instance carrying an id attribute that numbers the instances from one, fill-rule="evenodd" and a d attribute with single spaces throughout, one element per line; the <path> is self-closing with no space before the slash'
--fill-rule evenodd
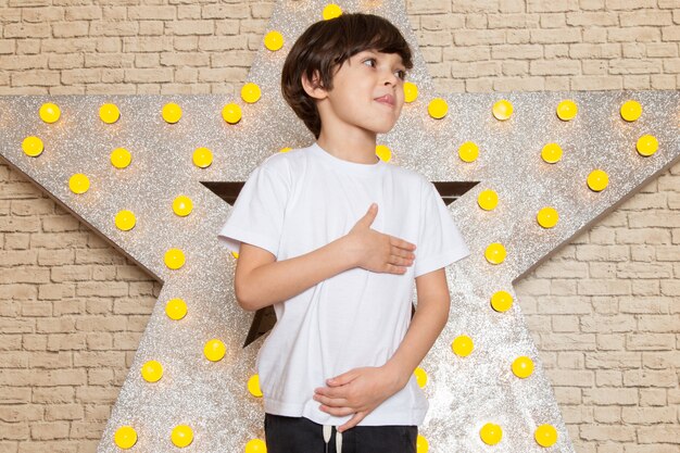
<path id="1" fill-rule="evenodd" d="M 338 428 L 356 426 L 385 400 L 400 391 L 427 355 L 449 319 L 451 297 L 444 268 L 416 278 L 418 307 L 392 357 L 380 367 L 354 368 L 315 389 L 320 410 L 336 416 L 354 414 Z"/>

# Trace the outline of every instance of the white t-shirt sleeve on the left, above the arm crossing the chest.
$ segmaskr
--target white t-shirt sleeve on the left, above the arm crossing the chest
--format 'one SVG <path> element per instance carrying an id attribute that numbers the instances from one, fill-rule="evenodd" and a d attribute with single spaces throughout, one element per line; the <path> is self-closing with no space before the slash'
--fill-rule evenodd
<path id="1" fill-rule="evenodd" d="M 266 161 L 265 161 L 266 162 Z M 232 252 L 241 242 L 257 246 L 278 257 L 289 187 L 278 169 L 257 166 L 241 188 L 218 241 Z"/>

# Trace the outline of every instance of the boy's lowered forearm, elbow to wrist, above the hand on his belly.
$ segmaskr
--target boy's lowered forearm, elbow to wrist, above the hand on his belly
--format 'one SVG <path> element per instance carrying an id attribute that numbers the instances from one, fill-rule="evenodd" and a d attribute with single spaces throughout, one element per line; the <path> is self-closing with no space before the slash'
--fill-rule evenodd
<path id="1" fill-rule="evenodd" d="M 451 299 L 418 301 L 418 307 L 411 319 L 408 330 L 394 355 L 385 364 L 390 375 L 396 379 L 401 390 L 411 378 L 418 364 L 425 358 L 443 330 L 449 319 Z"/>

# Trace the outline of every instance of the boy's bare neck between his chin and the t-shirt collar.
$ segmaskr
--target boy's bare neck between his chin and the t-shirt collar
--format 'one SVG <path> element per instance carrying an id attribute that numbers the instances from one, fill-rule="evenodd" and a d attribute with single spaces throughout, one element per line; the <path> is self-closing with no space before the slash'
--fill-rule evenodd
<path id="1" fill-rule="evenodd" d="M 376 155 L 376 134 L 368 130 L 333 134 L 322 128 L 316 142 L 325 151 L 343 161 L 375 164 L 379 160 Z"/>

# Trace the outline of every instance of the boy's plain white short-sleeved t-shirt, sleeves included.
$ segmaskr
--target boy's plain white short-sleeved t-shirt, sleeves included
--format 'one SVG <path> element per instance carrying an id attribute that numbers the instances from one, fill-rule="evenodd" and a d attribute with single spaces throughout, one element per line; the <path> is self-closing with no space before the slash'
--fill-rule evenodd
<path id="1" fill-rule="evenodd" d="M 300 256 L 347 235 L 370 203 L 370 228 L 417 246 L 403 275 L 355 267 L 274 304 L 277 323 L 257 353 L 264 410 L 341 425 L 351 416 L 320 411 L 314 389 L 363 366 L 381 366 L 411 323 L 415 277 L 469 254 L 435 185 L 381 160 L 375 164 L 333 156 L 317 143 L 267 158 L 245 181 L 219 241 L 266 249 L 277 261 Z M 420 425 L 428 402 L 412 376 L 398 393 L 358 425 Z"/>

